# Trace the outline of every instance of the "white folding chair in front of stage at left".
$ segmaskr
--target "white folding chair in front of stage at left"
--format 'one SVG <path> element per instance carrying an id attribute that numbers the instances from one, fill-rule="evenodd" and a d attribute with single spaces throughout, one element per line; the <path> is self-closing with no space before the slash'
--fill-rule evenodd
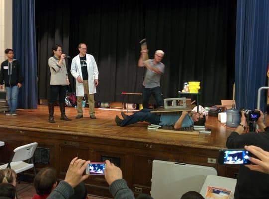
<path id="1" fill-rule="evenodd" d="M 0 169 L 11 168 L 16 174 L 26 171 L 28 169 L 34 169 L 34 175 L 36 175 L 34 163 L 32 160 L 34 151 L 37 147 L 37 143 L 26 144 L 14 149 L 14 153 L 7 164 L 0 165 Z M 28 163 L 24 162 L 28 160 Z"/>

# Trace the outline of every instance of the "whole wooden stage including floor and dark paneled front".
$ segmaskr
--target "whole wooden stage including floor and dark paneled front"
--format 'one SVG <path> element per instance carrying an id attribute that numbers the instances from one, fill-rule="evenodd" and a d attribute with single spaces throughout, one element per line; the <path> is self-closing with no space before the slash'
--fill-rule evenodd
<path id="1" fill-rule="evenodd" d="M 72 121 L 60 121 L 56 106 L 55 124 L 48 122 L 48 107 L 44 105 L 17 113 L 17 116 L 0 113 L 0 141 L 5 142 L 0 147 L 0 163 L 9 160 L 15 147 L 38 142 L 38 147 L 47 150 L 49 160 L 37 161 L 36 167 L 54 167 L 60 179 L 64 179 L 75 156 L 92 161 L 113 160 L 121 167 L 135 194 L 150 192 L 154 159 L 211 166 L 217 169 L 218 175 L 227 177 L 234 177 L 238 169 L 217 164 L 218 150 L 225 148 L 232 129 L 226 129 L 216 117 L 209 117 L 206 122 L 211 134 L 183 135 L 147 130 L 146 122 L 119 127 L 115 116 L 120 116 L 121 111 L 96 109 L 97 119 L 92 120 L 88 108 L 81 119 L 75 119 L 75 108 L 66 108 L 66 115 Z M 91 176 L 86 183 L 89 193 L 111 197 L 103 176 Z"/>

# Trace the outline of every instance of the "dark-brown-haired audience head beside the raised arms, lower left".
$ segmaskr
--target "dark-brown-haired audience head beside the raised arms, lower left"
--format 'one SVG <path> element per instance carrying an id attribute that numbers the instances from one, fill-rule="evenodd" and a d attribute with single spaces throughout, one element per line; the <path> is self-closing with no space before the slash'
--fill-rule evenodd
<path id="1" fill-rule="evenodd" d="M 38 195 L 50 194 L 56 185 L 56 171 L 50 167 L 41 169 L 34 178 L 34 187 Z"/>

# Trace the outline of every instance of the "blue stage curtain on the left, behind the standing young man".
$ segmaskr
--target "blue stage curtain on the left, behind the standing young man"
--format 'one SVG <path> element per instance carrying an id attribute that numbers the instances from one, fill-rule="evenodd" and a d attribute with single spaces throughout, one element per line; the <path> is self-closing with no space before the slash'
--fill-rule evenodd
<path id="1" fill-rule="evenodd" d="M 24 76 L 18 108 L 37 108 L 35 0 L 13 0 L 13 48 Z"/>

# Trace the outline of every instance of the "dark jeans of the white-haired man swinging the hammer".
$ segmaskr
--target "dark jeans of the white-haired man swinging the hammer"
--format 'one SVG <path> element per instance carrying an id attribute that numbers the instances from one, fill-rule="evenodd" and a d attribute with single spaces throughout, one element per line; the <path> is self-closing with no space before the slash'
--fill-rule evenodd
<path id="1" fill-rule="evenodd" d="M 148 108 L 148 101 L 150 96 L 153 95 L 157 102 L 157 107 L 163 106 L 160 87 L 143 88 L 143 108 Z"/>

